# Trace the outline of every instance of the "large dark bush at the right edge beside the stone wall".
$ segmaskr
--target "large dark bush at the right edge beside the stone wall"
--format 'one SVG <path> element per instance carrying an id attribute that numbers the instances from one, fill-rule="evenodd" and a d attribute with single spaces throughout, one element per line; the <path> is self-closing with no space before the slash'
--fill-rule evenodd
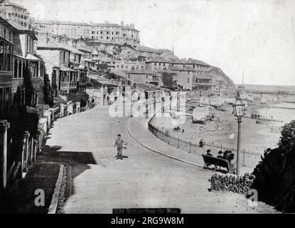
<path id="1" fill-rule="evenodd" d="M 255 167 L 256 177 L 251 188 L 256 189 L 259 200 L 284 212 L 295 212 L 295 120 L 281 129 L 279 147 L 267 149 Z"/>

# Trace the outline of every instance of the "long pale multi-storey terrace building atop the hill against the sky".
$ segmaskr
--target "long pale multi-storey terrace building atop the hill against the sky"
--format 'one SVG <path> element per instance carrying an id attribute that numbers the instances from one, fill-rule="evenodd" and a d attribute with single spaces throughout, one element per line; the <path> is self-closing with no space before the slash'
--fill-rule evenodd
<path id="1" fill-rule="evenodd" d="M 139 31 L 134 24 L 124 25 L 75 23 L 71 21 L 34 21 L 33 27 L 38 33 L 49 33 L 53 36 L 67 36 L 68 38 L 85 38 L 106 43 L 127 43 L 139 45 Z"/>

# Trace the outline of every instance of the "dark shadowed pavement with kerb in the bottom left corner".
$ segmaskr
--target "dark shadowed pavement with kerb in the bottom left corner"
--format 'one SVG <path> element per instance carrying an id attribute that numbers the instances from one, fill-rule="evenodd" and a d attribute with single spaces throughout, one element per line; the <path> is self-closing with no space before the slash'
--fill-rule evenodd
<path id="1" fill-rule="evenodd" d="M 58 199 L 59 191 L 56 191 L 55 187 L 60 167 L 60 164 L 41 161 L 31 166 L 26 177 L 17 180 L 9 188 L 4 201 L 0 203 L 0 214 L 46 214 L 50 207 L 52 207 L 51 210 L 53 207 L 56 209 L 57 204 L 52 204 L 52 199 Z M 53 197 L 54 192 L 57 197 Z M 44 196 L 44 204 L 42 204 L 42 196 Z"/>

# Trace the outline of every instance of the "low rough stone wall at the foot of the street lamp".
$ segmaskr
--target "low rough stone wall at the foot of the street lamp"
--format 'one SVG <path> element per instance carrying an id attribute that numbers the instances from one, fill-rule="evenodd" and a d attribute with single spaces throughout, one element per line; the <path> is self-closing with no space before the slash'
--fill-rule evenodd
<path id="1" fill-rule="evenodd" d="M 246 173 L 244 176 L 215 173 L 211 177 L 211 190 L 237 192 L 247 195 L 254 178 L 254 175 L 249 173 Z"/>

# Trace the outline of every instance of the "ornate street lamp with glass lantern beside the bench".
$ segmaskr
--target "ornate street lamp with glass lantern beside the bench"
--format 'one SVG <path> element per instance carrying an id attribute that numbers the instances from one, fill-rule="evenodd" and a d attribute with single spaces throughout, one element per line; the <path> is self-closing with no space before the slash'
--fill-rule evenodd
<path id="1" fill-rule="evenodd" d="M 232 105 L 232 108 L 234 109 L 234 115 L 237 117 L 237 175 L 240 175 L 240 127 L 245 111 L 245 103 L 242 102 L 239 91 L 237 91 L 237 98 L 235 98 L 235 104 Z"/>

